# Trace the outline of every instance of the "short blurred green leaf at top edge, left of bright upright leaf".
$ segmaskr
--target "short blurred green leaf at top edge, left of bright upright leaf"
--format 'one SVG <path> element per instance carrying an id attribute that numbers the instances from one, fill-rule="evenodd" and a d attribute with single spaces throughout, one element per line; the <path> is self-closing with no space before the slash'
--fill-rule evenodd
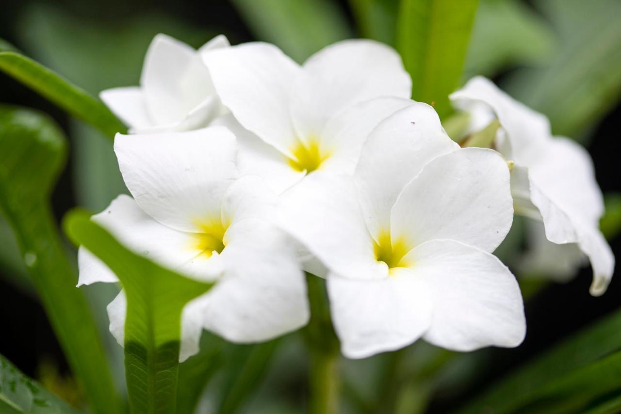
<path id="1" fill-rule="evenodd" d="M 350 0 L 349 3 L 363 37 L 394 45 L 399 0 Z"/>

